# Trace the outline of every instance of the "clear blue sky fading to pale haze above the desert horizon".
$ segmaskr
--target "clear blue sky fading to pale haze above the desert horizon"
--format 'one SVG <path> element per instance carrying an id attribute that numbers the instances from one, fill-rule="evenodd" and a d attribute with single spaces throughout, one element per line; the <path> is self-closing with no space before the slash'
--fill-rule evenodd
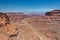
<path id="1" fill-rule="evenodd" d="M 60 9 L 60 0 L 0 0 L 0 12 L 39 12 Z"/>

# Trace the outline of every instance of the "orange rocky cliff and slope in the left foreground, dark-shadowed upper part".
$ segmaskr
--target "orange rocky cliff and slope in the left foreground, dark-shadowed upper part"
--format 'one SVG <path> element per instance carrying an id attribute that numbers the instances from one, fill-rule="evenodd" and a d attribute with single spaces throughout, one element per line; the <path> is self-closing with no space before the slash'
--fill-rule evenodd
<path id="1" fill-rule="evenodd" d="M 16 27 L 10 24 L 7 14 L 0 13 L 0 40 L 9 40 L 14 35 L 17 35 Z"/>

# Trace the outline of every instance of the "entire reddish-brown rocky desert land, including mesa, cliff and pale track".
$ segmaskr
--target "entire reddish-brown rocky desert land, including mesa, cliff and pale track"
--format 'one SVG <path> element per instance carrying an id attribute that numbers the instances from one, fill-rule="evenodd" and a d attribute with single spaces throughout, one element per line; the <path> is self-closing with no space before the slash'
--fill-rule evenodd
<path id="1" fill-rule="evenodd" d="M 0 13 L 0 40 L 60 40 L 60 10 L 32 17 Z"/>

